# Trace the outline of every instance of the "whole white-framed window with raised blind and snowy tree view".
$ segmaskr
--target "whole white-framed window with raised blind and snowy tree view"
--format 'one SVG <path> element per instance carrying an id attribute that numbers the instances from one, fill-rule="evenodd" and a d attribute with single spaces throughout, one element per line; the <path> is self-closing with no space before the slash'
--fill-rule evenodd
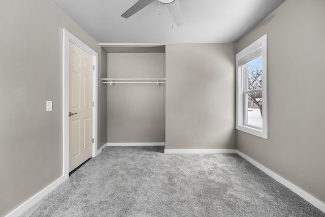
<path id="1" fill-rule="evenodd" d="M 267 35 L 236 54 L 236 129 L 268 138 Z"/>

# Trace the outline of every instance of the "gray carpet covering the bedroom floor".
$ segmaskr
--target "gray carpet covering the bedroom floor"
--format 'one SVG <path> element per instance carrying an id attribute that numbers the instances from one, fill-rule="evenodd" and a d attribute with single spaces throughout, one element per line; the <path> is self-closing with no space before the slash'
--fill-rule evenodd
<path id="1" fill-rule="evenodd" d="M 21 216 L 325 216 L 237 154 L 106 147 Z"/>

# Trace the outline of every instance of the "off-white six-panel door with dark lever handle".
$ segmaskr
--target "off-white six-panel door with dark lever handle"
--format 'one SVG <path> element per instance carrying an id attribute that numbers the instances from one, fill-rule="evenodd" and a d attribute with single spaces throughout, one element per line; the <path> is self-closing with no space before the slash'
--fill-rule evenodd
<path id="1" fill-rule="evenodd" d="M 69 172 L 92 156 L 93 57 L 69 44 Z"/>

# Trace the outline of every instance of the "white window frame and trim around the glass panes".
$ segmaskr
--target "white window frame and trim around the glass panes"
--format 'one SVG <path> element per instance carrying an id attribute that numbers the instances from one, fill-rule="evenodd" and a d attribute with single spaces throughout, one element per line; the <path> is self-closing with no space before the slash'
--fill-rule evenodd
<path id="1" fill-rule="evenodd" d="M 243 57 L 262 48 L 262 96 L 263 96 L 263 127 L 246 124 L 247 99 L 244 87 L 247 85 L 245 69 L 238 62 Z M 244 65 L 243 65 L 244 66 Z M 247 71 L 247 69 L 246 69 Z M 262 36 L 248 47 L 236 54 L 236 129 L 268 139 L 268 86 L 267 86 L 267 35 Z M 258 90 L 261 91 L 261 90 Z M 246 91 L 247 92 L 247 91 Z"/>

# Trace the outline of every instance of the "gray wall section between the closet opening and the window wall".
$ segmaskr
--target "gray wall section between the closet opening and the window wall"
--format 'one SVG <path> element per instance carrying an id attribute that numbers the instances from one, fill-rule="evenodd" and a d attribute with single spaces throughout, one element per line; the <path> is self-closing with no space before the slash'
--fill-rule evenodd
<path id="1" fill-rule="evenodd" d="M 166 45 L 166 149 L 236 149 L 235 44 Z"/>

